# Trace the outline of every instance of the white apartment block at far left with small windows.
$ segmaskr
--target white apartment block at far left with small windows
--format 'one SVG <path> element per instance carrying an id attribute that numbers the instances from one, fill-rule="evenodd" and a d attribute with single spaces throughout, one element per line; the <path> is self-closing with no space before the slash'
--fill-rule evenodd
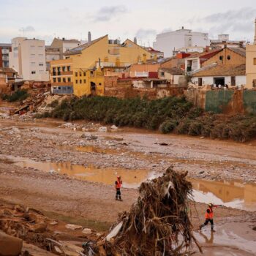
<path id="1" fill-rule="evenodd" d="M 13 38 L 9 59 L 10 67 L 15 69 L 23 80 L 50 80 L 49 72 L 46 71 L 44 40 Z"/>

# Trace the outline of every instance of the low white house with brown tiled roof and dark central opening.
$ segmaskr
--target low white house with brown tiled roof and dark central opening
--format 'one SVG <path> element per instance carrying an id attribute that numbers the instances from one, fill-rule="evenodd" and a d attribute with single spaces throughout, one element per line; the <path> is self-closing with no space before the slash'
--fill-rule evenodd
<path id="1" fill-rule="evenodd" d="M 192 83 L 197 86 L 245 86 L 245 64 L 211 64 L 192 74 Z"/>

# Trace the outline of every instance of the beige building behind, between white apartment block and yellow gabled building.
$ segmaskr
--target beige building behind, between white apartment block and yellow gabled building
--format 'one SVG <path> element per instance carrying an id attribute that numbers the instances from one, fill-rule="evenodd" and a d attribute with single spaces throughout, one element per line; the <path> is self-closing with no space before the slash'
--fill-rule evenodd
<path id="1" fill-rule="evenodd" d="M 59 59 L 64 59 L 64 53 L 67 50 L 78 47 L 79 45 L 81 45 L 81 42 L 77 39 L 54 38 L 50 49 L 59 49 Z"/>

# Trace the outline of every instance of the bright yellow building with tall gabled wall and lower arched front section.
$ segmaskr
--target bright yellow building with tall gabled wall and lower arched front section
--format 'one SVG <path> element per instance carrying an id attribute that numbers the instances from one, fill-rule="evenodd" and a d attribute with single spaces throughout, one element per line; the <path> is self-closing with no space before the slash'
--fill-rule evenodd
<path id="1" fill-rule="evenodd" d="M 120 72 L 131 64 L 146 63 L 147 59 L 151 59 L 151 53 L 135 42 L 127 39 L 121 44 L 119 40 L 109 40 L 108 35 L 72 48 L 64 56 L 66 59 L 58 64 L 68 60 L 72 63 L 73 93 L 78 97 L 104 94 L 101 68 L 111 67 Z M 52 64 L 56 62 L 52 61 Z"/>

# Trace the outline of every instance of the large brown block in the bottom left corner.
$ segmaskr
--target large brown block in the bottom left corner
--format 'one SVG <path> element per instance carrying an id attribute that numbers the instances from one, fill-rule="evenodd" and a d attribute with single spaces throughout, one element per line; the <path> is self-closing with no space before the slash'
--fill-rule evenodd
<path id="1" fill-rule="evenodd" d="M 0 255 L 18 256 L 21 253 L 23 241 L 20 238 L 9 236 L 0 230 Z"/>

